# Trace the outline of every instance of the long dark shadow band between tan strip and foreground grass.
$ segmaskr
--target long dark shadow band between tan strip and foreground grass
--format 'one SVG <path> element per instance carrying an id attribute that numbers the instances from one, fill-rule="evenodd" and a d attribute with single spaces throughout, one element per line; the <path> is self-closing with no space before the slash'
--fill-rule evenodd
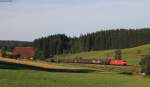
<path id="1" fill-rule="evenodd" d="M 37 71 L 47 71 L 47 72 L 72 72 L 72 73 L 90 73 L 94 72 L 95 70 L 91 69 L 47 69 L 47 68 L 41 68 L 36 66 L 30 66 L 30 65 L 23 65 L 23 64 L 15 64 L 15 63 L 8 63 L 8 62 L 0 62 L 0 69 L 12 69 L 12 70 L 37 70 Z"/>

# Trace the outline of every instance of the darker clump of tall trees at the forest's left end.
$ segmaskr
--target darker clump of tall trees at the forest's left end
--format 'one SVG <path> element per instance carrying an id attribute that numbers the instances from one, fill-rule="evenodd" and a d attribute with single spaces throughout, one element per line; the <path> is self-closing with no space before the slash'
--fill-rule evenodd
<path id="1" fill-rule="evenodd" d="M 64 34 L 51 35 L 46 38 L 36 39 L 34 46 L 41 50 L 43 58 L 49 58 L 52 55 L 67 53 L 69 38 Z"/>

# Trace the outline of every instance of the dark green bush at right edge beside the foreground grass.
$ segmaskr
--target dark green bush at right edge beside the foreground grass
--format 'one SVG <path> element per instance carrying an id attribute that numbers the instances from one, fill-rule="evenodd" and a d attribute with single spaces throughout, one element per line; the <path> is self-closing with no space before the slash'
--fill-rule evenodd
<path id="1" fill-rule="evenodd" d="M 140 65 L 142 68 L 142 73 L 150 74 L 150 55 L 145 56 L 141 59 Z"/>

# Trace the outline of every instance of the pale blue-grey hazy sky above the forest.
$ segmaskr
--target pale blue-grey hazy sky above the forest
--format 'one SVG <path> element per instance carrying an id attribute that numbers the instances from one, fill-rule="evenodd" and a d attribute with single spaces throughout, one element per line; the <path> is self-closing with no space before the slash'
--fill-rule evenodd
<path id="1" fill-rule="evenodd" d="M 9 1 L 9 0 L 6 0 Z M 150 27 L 150 0 L 0 0 L 0 40 Z"/>

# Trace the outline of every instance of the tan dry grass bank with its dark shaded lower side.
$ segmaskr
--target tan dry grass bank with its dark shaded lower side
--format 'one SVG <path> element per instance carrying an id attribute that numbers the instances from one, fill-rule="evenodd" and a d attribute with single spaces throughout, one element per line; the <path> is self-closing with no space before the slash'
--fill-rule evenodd
<path id="1" fill-rule="evenodd" d="M 46 63 L 46 62 L 34 62 L 34 61 L 23 61 L 16 60 L 11 58 L 1 58 L 0 64 L 6 64 L 9 66 L 17 66 L 25 69 L 33 69 L 33 70 L 42 70 L 42 71 L 50 71 L 50 72 L 75 72 L 75 73 L 87 73 L 92 72 L 93 70 L 84 69 L 84 68 L 71 68 L 64 67 L 55 63 Z"/>

